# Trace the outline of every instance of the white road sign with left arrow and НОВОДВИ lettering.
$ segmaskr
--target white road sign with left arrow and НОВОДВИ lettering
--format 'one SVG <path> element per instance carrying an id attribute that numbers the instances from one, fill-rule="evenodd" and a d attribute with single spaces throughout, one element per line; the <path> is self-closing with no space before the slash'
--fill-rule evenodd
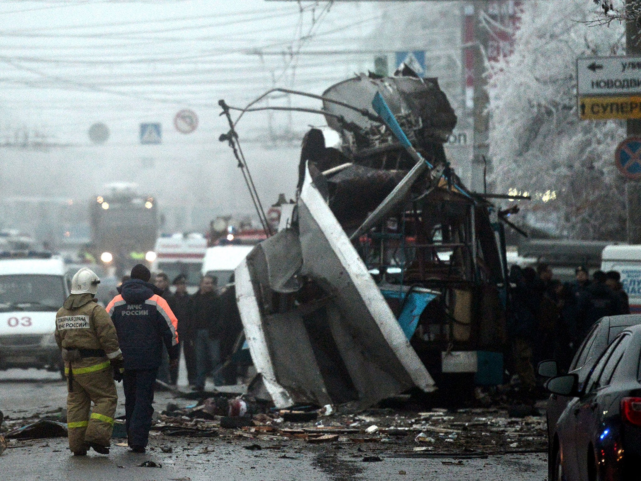
<path id="1" fill-rule="evenodd" d="M 641 95 L 641 57 L 577 58 L 576 91 L 579 97 Z"/>

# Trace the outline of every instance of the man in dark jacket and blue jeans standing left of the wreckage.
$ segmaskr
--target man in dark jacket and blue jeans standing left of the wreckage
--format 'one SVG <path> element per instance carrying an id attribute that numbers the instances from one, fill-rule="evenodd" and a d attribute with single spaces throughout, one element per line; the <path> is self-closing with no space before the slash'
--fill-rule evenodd
<path id="1" fill-rule="evenodd" d="M 209 367 L 216 373 L 221 362 L 221 305 L 216 292 L 217 278 L 203 276 L 198 292 L 189 302 L 189 327 L 196 350 L 196 391 L 203 391 Z M 214 384 L 222 385 L 219 375 Z"/>

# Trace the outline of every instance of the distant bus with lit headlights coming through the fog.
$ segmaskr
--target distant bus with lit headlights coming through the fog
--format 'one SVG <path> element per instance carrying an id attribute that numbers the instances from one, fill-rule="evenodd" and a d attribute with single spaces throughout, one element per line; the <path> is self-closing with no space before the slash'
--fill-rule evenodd
<path id="1" fill-rule="evenodd" d="M 158 205 L 153 196 L 138 193 L 137 185 L 107 185 L 91 201 L 90 224 L 92 255 L 115 275 L 156 259 Z"/>

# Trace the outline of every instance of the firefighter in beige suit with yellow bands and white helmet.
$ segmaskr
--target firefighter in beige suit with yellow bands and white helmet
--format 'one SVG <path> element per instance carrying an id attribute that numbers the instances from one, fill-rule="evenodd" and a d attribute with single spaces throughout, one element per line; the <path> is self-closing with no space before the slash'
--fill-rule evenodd
<path id="1" fill-rule="evenodd" d="M 69 389 L 69 448 L 74 455 L 85 455 L 89 448 L 109 453 L 118 401 L 113 381 L 122 380 L 116 330 L 109 314 L 94 300 L 99 283 L 94 271 L 80 269 L 71 281 L 71 296 L 56 314 L 56 342 Z"/>

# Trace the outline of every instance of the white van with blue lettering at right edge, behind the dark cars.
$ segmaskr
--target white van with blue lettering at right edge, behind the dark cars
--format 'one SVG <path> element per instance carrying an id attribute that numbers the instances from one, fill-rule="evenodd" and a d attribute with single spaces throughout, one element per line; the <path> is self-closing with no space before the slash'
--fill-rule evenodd
<path id="1" fill-rule="evenodd" d="M 621 274 L 623 290 L 629 297 L 630 312 L 641 313 L 641 245 L 606 246 L 601 254 L 601 270 Z"/>

